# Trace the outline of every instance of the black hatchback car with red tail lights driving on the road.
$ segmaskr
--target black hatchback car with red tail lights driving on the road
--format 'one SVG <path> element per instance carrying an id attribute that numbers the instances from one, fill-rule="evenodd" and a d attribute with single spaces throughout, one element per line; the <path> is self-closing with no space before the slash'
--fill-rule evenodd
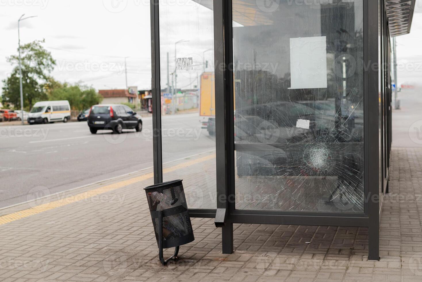
<path id="1" fill-rule="evenodd" d="M 89 111 L 88 126 L 92 134 L 97 130 L 113 130 L 120 134 L 123 129 L 141 131 L 142 119 L 126 105 L 95 105 Z"/>

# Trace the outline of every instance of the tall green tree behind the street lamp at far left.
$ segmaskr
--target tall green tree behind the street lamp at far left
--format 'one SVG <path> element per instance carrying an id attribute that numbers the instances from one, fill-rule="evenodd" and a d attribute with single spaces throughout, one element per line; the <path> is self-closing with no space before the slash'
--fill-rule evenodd
<path id="1" fill-rule="evenodd" d="M 45 40 L 36 40 L 21 46 L 22 89 L 26 109 L 31 108 L 36 101 L 46 99 L 44 85 L 48 83 L 56 65 L 51 53 L 43 48 L 42 43 L 45 43 Z M 12 55 L 7 61 L 14 69 L 11 75 L 3 80 L 3 103 L 20 108 L 19 56 Z"/>

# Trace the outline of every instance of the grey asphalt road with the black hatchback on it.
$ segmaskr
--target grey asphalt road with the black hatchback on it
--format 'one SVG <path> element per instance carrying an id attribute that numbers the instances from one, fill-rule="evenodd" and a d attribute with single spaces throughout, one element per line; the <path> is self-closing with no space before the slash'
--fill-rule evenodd
<path id="1" fill-rule="evenodd" d="M 198 114 L 162 117 L 163 162 L 215 149 Z M 86 122 L 0 126 L 0 208 L 153 166 L 152 118 L 142 132 L 91 134 Z M 152 169 L 151 169 L 152 171 Z M 41 187 L 41 188 L 40 188 Z"/>

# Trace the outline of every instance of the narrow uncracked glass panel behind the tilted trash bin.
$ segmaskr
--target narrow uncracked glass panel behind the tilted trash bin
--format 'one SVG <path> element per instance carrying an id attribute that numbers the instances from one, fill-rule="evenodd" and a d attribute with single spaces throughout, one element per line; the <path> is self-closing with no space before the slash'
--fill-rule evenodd
<path id="1" fill-rule="evenodd" d="M 190 209 L 216 209 L 212 7 L 160 1 L 163 181 L 183 179 Z"/>

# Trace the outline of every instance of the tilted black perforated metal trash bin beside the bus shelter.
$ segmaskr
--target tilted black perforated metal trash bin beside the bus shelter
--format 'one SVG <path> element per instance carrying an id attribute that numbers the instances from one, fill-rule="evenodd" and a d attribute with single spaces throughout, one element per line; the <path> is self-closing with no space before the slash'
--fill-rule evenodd
<path id="1" fill-rule="evenodd" d="M 176 259 L 179 246 L 195 240 L 189 218 L 182 180 L 154 184 L 144 188 L 154 225 L 160 261 L 165 265 Z M 172 257 L 164 260 L 163 249 L 176 247 Z"/>

